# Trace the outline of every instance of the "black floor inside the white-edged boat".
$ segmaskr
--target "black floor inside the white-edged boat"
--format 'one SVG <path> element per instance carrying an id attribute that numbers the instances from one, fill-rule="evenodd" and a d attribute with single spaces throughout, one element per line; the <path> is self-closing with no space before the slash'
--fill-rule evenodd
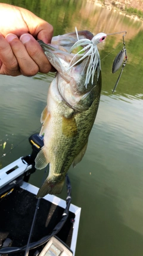
<path id="1" fill-rule="evenodd" d="M 27 244 L 36 201 L 35 194 L 19 186 L 15 187 L 11 194 L 0 199 L 0 248 L 7 237 L 12 240 L 10 246 L 21 247 Z M 41 198 L 31 242 L 36 242 L 43 236 L 50 234 L 55 225 L 60 221 L 63 211 L 63 207 Z M 69 212 L 66 223 L 57 234 L 69 247 L 73 233 L 73 222 L 71 219 L 74 218 L 75 214 Z M 30 250 L 29 256 L 32 256 L 37 249 Z M 8 255 L 24 256 L 24 252 Z"/>

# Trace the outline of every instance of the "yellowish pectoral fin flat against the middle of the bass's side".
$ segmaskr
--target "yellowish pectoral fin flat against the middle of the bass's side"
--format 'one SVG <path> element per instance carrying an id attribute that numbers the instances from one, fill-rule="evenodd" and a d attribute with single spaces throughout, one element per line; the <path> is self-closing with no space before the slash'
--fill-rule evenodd
<path id="1" fill-rule="evenodd" d="M 74 115 L 71 118 L 62 118 L 62 131 L 66 137 L 74 137 L 77 134 L 77 125 Z"/>

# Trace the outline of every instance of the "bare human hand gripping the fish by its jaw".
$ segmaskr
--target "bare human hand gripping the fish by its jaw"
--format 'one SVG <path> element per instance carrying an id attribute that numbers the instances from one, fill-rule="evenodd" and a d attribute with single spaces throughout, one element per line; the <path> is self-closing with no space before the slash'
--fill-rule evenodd
<path id="1" fill-rule="evenodd" d="M 0 74 L 33 76 L 52 66 L 39 43 L 50 43 L 53 28 L 30 11 L 0 4 Z"/>

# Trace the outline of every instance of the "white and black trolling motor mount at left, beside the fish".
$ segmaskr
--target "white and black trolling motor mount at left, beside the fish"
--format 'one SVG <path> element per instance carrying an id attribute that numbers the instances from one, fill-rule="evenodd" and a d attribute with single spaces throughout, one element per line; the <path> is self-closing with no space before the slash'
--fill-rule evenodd
<path id="1" fill-rule="evenodd" d="M 11 164 L 1 169 L 0 177 L 0 198 L 11 191 L 15 186 L 29 181 L 29 177 L 35 172 L 35 158 L 43 146 L 43 137 L 38 133 L 29 137 L 29 142 L 32 144 L 32 153 L 20 157 Z"/>

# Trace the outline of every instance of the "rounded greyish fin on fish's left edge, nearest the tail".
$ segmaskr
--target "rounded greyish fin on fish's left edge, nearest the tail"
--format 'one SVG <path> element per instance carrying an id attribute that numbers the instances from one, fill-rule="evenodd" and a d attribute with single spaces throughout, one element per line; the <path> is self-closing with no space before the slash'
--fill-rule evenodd
<path id="1" fill-rule="evenodd" d="M 35 168 L 36 169 L 43 169 L 49 163 L 46 147 L 43 146 L 38 155 L 35 158 Z"/>

